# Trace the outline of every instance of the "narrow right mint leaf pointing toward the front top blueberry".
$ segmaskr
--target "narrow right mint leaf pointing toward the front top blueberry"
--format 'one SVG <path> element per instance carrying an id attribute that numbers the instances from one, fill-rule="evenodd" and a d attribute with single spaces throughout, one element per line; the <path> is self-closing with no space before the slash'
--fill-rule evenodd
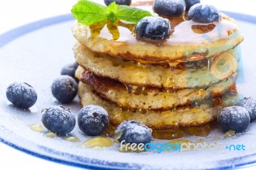
<path id="1" fill-rule="evenodd" d="M 116 18 L 121 20 L 127 20 L 129 22 L 137 23 L 144 17 L 152 16 L 148 11 L 141 10 L 139 8 L 132 8 L 126 5 L 118 5 L 118 10 L 116 13 Z"/>

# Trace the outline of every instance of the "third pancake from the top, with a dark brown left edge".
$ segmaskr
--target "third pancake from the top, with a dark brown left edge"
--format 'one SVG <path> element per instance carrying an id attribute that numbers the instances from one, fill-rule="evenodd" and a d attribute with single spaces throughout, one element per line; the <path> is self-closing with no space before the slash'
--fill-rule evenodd
<path id="1" fill-rule="evenodd" d="M 93 90 L 118 107 L 131 111 L 174 109 L 193 102 L 200 102 L 211 95 L 221 96 L 236 84 L 236 75 L 234 75 L 227 81 L 212 84 L 207 89 L 181 89 L 177 91 L 141 87 L 127 89 L 122 82 L 99 77 L 81 67 L 77 68 L 76 77 L 89 84 Z"/>

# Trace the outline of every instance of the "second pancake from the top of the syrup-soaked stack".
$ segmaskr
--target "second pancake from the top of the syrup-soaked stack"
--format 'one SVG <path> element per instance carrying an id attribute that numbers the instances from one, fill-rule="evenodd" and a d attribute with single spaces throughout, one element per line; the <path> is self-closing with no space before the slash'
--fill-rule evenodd
<path id="1" fill-rule="evenodd" d="M 130 86 L 165 89 L 207 88 L 232 76 L 237 71 L 240 57 L 239 50 L 232 49 L 216 56 L 209 67 L 206 60 L 181 63 L 175 69 L 170 69 L 163 65 L 138 65 L 134 61 L 92 52 L 79 43 L 76 43 L 73 50 L 77 63 L 95 75 L 115 79 Z M 229 68 L 220 72 L 223 64 L 228 64 Z"/>

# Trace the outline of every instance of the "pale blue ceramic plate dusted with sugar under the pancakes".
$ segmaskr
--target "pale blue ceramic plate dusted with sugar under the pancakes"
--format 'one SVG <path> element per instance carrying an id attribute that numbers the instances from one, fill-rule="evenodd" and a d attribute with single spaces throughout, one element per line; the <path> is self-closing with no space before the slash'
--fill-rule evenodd
<path id="1" fill-rule="evenodd" d="M 244 82 L 238 84 L 239 93 L 256 98 L 256 58 L 254 53 L 256 18 L 237 13 L 227 13 L 237 19 L 245 40 L 241 44 L 243 55 Z M 243 21 L 242 21 L 243 20 Z M 92 169 L 211 169 L 250 166 L 256 162 L 256 123 L 251 123 L 243 134 L 224 139 L 218 128 L 207 137 L 185 136 L 197 141 L 205 139 L 218 143 L 216 150 L 197 151 L 145 151 L 121 153 L 118 144 L 103 150 L 81 148 L 90 137 L 76 127 L 68 134 L 81 140 L 80 143 L 65 141 L 65 137 L 49 138 L 48 132 L 35 132 L 30 125 L 41 123 L 41 109 L 58 105 L 52 97 L 52 81 L 60 75 L 63 65 L 72 63 L 72 46 L 75 43 L 70 28 L 75 23 L 71 15 L 40 20 L 0 35 L 0 140 L 1 142 L 36 157 L 45 158 L 70 166 Z M 7 86 L 15 81 L 31 84 L 38 93 L 38 101 L 27 111 L 16 109 L 6 99 Z M 66 105 L 77 117 L 81 106 L 78 97 Z M 220 141 L 212 141 L 220 137 Z M 154 143 L 164 143 L 155 140 Z M 227 150 L 226 146 L 243 144 L 245 150 Z"/>

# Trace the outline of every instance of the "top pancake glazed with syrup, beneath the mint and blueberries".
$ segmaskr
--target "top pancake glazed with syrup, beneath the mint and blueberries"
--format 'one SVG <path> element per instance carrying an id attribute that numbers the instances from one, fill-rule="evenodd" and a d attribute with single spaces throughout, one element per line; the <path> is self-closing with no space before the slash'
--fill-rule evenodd
<path id="1" fill-rule="evenodd" d="M 150 10 L 151 6 L 145 7 Z M 182 63 L 211 58 L 233 49 L 243 41 L 237 25 L 230 17 L 212 24 L 196 23 L 184 17 L 172 17 L 172 35 L 165 42 L 145 42 L 133 35 L 134 25 L 98 23 L 72 27 L 76 40 L 88 49 L 113 57 L 140 63 Z M 177 20 L 179 22 L 177 23 Z M 111 33 L 113 35 L 111 35 Z"/>

